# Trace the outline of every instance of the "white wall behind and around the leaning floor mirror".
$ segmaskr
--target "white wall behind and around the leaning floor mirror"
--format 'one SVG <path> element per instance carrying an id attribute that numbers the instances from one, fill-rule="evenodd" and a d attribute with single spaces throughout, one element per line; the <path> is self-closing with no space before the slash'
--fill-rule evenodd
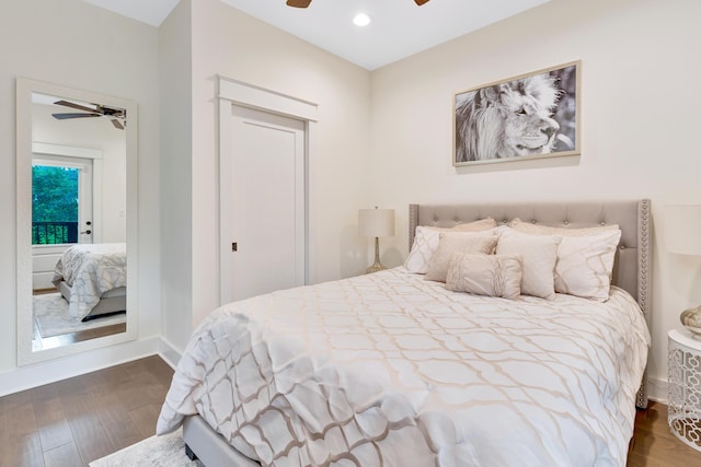
<path id="1" fill-rule="evenodd" d="M 41 14 L 37 14 L 39 13 Z M 134 358 L 160 334 L 157 30 L 80 0 L 0 2 L 0 394 Z M 16 367 L 15 78 L 137 102 L 139 340 Z M 28 311 L 27 311 L 28 312 Z"/>

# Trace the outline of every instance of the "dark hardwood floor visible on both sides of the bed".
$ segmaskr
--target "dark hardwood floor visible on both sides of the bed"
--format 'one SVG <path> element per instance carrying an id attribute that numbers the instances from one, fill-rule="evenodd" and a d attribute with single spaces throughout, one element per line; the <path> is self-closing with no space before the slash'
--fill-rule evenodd
<path id="1" fill-rule="evenodd" d="M 87 466 L 156 433 L 173 370 L 159 357 L 0 397 L 0 466 Z M 701 465 L 667 427 L 667 406 L 639 410 L 628 467 Z"/>

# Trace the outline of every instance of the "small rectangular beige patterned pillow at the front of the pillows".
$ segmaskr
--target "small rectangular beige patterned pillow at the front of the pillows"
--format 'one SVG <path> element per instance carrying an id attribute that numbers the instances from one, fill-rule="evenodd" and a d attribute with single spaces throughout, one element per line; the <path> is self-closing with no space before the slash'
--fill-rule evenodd
<path id="1" fill-rule="evenodd" d="M 450 260 L 446 289 L 478 295 L 517 299 L 521 260 L 516 255 L 458 254 Z"/>

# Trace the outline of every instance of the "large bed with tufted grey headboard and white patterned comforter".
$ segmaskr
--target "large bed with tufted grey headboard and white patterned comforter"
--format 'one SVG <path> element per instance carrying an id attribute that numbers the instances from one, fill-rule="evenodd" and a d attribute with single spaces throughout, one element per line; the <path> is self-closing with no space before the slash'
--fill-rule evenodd
<path id="1" fill-rule="evenodd" d="M 440 276 L 455 230 L 490 219 L 496 226 L 468 242 L 476 252 L 453 252 L 445 280 L 427 279 Z M 409 226 L 401 267 L 210 314 L 177 365 L 157 432 L 182 425 L 188 455 L 207 466 L 624 466 L 635 406 L 647 404 L 650 201 L 412 205 Z M 438 246 L 422 258 L 436 232 Z M 495 232 L 496 254 L 481 254 Z M 572 266 L 562 252 L 598 245 L 589 235 L 606 237 L 610 254 L 594 261 L 610 275 L 596 293 L 514 294 L 527 290 L 527 269 L 542 279 L 547 261 L 526 261 L 540 247 L 508 248 L 548 242 L 553 287 L 589 293 L 577 287 L 600 275 L 578 284 L 559 270 Z M 468 271 L 480 261 L 489 265 Z M 507 272 L 519 261 L 521 276 Z M 529 282 L 529 293 L 541 285 Z"/>

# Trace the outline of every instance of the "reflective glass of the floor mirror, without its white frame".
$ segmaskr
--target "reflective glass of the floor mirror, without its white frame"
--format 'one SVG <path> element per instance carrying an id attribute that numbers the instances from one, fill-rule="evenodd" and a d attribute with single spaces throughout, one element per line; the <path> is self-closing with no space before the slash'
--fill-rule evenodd
<path id="1" fill-rule="evenodd" d="M 32 348 L 124 332 L 126 109 L 32 93 Z"/>

